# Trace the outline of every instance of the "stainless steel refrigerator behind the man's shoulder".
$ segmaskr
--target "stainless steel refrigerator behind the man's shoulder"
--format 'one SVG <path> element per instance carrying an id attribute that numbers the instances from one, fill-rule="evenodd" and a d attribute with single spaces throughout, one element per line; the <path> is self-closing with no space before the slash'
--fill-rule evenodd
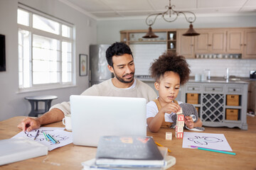
<path id="1" fill-rule="evenodd" d="M 107 69 L 106 50 L 110 45 L 90 45 L 90 86 L 100 84 L 112 78 L 112 73 Z"/>

